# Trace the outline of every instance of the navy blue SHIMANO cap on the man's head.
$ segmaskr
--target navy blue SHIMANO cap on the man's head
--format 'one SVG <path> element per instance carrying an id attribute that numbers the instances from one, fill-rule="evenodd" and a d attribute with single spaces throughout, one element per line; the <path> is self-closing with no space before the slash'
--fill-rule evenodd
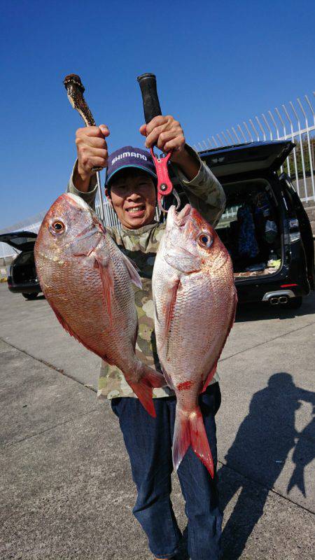
<path id="1" fill-rule="evenodd" d="M 105 185 L 109 185 L 109 181 L 111 181 L 113 175 L 120 171 L 120 169 L 125 169 L 126 167 L 137 167 L 156 179 L 155 165 L 151 158 L 151 153 L 147 150 L 141 150 L 141 148 L 125 146 L 109 155 Z"/>

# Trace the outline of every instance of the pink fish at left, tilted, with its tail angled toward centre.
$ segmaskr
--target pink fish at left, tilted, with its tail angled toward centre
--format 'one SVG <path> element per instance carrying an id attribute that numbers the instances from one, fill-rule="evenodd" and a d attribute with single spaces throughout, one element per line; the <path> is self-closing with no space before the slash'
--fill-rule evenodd
<path id="1" fill-rule="evenodd" d="M 38 280 L 62 326 L 107 363 L 115 364 L 155 416 L 152 387 L 165 379 L 134 353 L 137 310 L 132 282 L 141 279 L 92 209 L 61 195 L 43 219 L 34 248 Z"/>

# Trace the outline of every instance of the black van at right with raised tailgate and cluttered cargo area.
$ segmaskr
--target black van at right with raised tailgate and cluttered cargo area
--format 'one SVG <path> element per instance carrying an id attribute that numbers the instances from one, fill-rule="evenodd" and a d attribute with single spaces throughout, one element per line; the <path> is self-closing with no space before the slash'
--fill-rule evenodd
<path id="1" fill-rule="evenodd" d="M 297 308 L 314 290 L 314 241 L 290 177 L 280 172 L 293 142 L 264 141 L 200 152 L 223 185 L 216 228 L 235 269 L 239 302 Z"/>

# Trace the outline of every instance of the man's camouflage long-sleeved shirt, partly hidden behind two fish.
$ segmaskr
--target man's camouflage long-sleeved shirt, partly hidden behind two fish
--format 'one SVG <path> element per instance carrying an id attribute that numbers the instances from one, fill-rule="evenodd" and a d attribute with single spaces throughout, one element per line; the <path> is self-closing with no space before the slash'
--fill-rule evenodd
<path id="1" fill-rule="evenodd" d="M 176 182 L 181 184 L 190 204 L 195 207 L 200 214 L 212 225 L 216 225 L 223 213 L 225 206 L 225 194 L 218 179 L 212 174 L 207 165 L 200 160 L 199 155 L 190 148 L 186 148 L 200 162 L 200 170 L 192 181 L 188 181 L 179 168 L 174 167 Z M 90 189 L 87 193 L 81 193 L 73 185 L 73 173 L 71 175 L 68 192 L 80 196 L 94 207 L 95 195 L 97 193 L 96 180 L 91 180 Z M 140 360 L 147 365 L 160 370 L 158 353 L 155 343 L 154 333 L 154 314 L 153 314 L 153 295 L 152 295 L 152 273 L 155 255 L 158 251 L 160 239 L 165 230 L 165 224 L 158 222 L 145 225 L 138 230 L 118 229 L 106 226 L 109 235 L 116 241 L 125 255 L 132 258 L 139 267 L 139 274 L 142 281 L 142 289 L 134 286 L 134 297 L 137 306 L 139 321 L 139 332 L 136 344 L 136 353 Z M 218 381 L 216 372 L 214 383 Z M 102 360 L 99 376 L 98 393 L 99 398 L 134 397 L 132 388 L 125 381 L 123 372 L 115 365 L 109 365 Z M 174 395 L 170 388 L 154 388 L 153 397 L 160 398 Z"/>

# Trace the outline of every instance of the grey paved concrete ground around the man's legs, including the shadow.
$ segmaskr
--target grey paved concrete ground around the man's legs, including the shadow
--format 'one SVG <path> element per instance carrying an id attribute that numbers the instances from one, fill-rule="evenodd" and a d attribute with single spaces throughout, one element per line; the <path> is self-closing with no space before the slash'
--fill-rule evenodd
<path id="1" fill-rule="evenodd" d="M 219 368 L 225 560 L 314 557 L 314 342 L 314 295 L 239 310 Z M 2 560 L 151 559 L 98 362 L 43 298 L 0 285 Z M 175 476 L 173 498 L 184 528 Z"/>

